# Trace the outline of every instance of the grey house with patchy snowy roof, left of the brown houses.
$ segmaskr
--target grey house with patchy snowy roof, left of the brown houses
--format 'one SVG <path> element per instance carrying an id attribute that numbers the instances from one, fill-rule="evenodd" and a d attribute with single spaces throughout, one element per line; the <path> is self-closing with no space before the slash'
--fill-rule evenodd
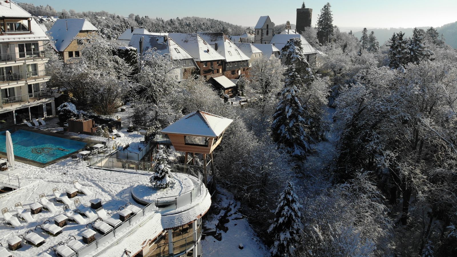
<path id="1" fill-rule="evenodd" d="M 140 58 L 145 54 L 153 53 L 168 56 L 178 66 L 176 69 L 178 80 L 191 77 L 192 73 L 197 70 L 193 57 L 169 36 L 133 34 L 128 46 L 137 48 Z"/>

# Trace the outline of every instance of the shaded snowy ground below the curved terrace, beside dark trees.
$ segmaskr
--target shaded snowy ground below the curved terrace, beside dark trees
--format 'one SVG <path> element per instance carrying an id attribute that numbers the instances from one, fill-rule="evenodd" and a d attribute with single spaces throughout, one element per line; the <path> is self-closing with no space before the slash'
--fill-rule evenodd
<path id="1" fill-rule="evenodd" d="M 216 230 L 215 236 L 206 236 L 202 240 L 205 256 L 270 256 L 268 249 L 255 235 L 248 220 L 239 213 L 239 207 L 240 203 L 234 200 L 233 194 L 218 187 L 218 194 L 213 197 L 211 205 L 215 214 L 207 217 L 203 223 L 204 231 Z"/>

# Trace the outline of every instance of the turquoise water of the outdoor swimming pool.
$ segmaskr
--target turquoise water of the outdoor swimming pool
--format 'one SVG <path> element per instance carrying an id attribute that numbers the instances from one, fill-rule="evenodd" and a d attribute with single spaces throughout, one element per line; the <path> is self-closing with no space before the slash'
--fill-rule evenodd
<path id="1" fill-rule="evenodd" d="M 14 155 L 47 163 L 85 147 L 86 143 L 19 129 L 11 133 Z M 0 151 L 6 153 L 6 131 L 0 132 Z"/>

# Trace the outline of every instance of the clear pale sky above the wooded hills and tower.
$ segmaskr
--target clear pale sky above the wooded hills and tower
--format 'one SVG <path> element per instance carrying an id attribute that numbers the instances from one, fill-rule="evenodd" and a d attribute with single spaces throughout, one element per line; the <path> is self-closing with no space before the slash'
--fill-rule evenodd
<path id="1" fill-rule="evenodd" d="M 214 18 L 242 26 L 254 26 L 269 15 L 276 24 L 295 23 L 300 0 L 20 0 L 51 5 L 56 10 L 108 11 L 128 16 L 184 16 Z M 305 1 L 313 9 L 313 25 L 328 0 Z M 339 27 L 439 27 L 457 21 L 457 0 L 333 0 L 334 24 Z M 238 5 L 238 6 L 237 6 Z"/>

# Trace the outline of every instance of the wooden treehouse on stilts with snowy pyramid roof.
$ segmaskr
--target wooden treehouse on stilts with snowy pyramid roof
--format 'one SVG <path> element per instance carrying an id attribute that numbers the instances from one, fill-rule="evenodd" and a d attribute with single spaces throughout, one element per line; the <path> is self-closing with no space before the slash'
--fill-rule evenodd
<path id="1" fill-rule="evenodd" d="M 209 112 L 196 111 L 180 118 L 160 132 L 170 138 L 176 151 L 186 153 L 186 165 L 195 166 L 196 155 L 203 155 L 203 179 L 206 184 L 209 169 L 211 174 L 214 174 L 213 150 L 219 145 L 225 129 L 232 122 L 231 119 Z"/>

